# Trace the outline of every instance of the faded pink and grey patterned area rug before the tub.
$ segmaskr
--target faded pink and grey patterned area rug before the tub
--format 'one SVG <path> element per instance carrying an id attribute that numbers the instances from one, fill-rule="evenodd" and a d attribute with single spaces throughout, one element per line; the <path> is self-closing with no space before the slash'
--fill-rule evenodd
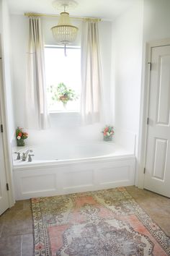
<path id="1" fill-rule="evenodd" d="M 32 199 L 35 255 L 164 256 L 170 239 L 125 188 Z"/>

